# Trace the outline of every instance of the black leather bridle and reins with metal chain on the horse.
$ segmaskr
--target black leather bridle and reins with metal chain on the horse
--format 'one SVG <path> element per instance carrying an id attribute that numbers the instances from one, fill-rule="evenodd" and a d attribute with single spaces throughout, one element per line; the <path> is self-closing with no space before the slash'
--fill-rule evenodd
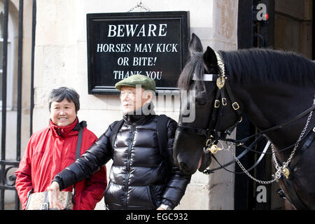
<path id="1" fill-rule="evenodd" d="M 242 174 L 242 173 L 246 173 L 248 176 L 250 176 L 252 179 L 253 177 L 248 173 L 248 171 L 250 171 L 251 169 L 255 168 L 259 162 L 262 160 L 263 156 L 266 154 L 267 149 L 269 148 L 270 145 L 270 141 L 267 142 L 267 145 L 265 146 L 264 150 L 262 151 L 262 155 L 260 155 L 260 158 L 257 160 L 257 162 L 255 162 L 255 164 L 250 167 L 249 169 L 245 169 L 241 163 L 239 162 L 239 159 L 241 157 L 243 157 L 246 153 L 248 153 L 248 151 L 253 151 L 251 148 L 253 148 L 258 141 L 260 140 L 260 137 L 262 137 L 262 134 L 265 134 L 267 132 L 272 132 L 274 130 L 278 130 L 282 127 L 286 127 L 287 125 L 290 125 L 292 123 L 294 123 L 295 121 L 299 120 L 300 118 L 304 117 L 305 115 L 307 115 L 307 113 L 311 113 L 311 111 L 315 110 L 315 105 L 313 104 L 313 106 L 311 106 L 309 109 L 303 111 L 302 113 L 298 114 L 297 116 L 295 116 L 295 118 L 288 120 L 286 123 L 281 123 L 279 125 L 275 125 L 274 127 L 270 127 L 267 130 L 263 130 L 261 132 L 258 132 L 257 134 L 253 134 L 250 137 L 246 137 L 244 139 L 240 139 L 240 140 L 235 140 L 235 139 L 225 139 L 227 134 L 232 134 L 232 131 L 235 129 L 235 127 L 237 127 L 237 125 L 239 123 L 241 123 L 242 120 L 242 112 L 240 111 L 240 106 L 239 104 L 236 102 L 234 95 L 232 94 L 232 90 L 230 88 L 230 84 L 228 81 L 228 78 L 225 76 L 225 66 L 223 63 L 223 59 L 221 58 L 221 55 L 219 55 L 217 52 L 216 53 L 216 57 L 217 57 L 217 61 L 218 61 L 218 67 L 220 70 L 219 74 L 207 74 L 205 73 L 201 78 L 197 77 L 196 74 L 193 75 L 193 80 L 198 80 L 198 81 L 207 81 L 207 82 L 216 82 L 216 85 L 218 87 L 218 90 L 216 92 L 216 99 L 214 100 L 214 111 L 211 114 L 211 120 L 209 122 L 209 128 L 208 129 L 200 129 L 200 128 L 195 128 L 195 127 L 188 127 L 188 126 L 184 126 L 184 125 L 178 125 L 178 129 L 181 130 L 181 132 L 186 132 L 189 134 L 199 134 L 199 135 L 204 135 L 206 137 L 206 141 L 205 141 L 205 146 L 204 146 L 204 153 L 211 153 L 211 156 L 214 157 L 214 159 L 216 160 L 216 162 L 218 162 L 218 160 L 215 158 L 214 154 L 218 151 L 221 151 L 223 149 L 219 148 L 217 146 L 218 141 L 222 140 L 222 141 L 230 141 L 234 144 L 237 144 L 237 146 L 241 146 L 243 148 L 245 148 L 245 151 L 243 151 L 240 155 L 238 155 L 237 157 L 235 157 L 234 160 L 226 163 L 225 165 L 221 165 L 218 162 L 219 167 L 214 168 L 214 169 L 206 169 L 204 170 L 204 174 L 211 174 L 214 171 L 218 170 L 218 169 L 225 169 L 225 167 L 228 167 L 229 165 L 232 165 L 232 163 L 237 162 L 239 164 L 239 166 L 241 167 L 241 169 L 243 169 L 244 172 L 232 172 L 228 169 L 228 172 L 232 172 L 235 174 Z M 218 125 L 221 122 L 221 117 L 223 116 L 223 106 L 227 106 L 227 98 L 225 97 L 225 91 L 228 93 L 228 97 L 230 98 L 230 101 L 232 102 L 232 109 L 237 113 L 237 122 L 232 125 L 230 128 L 228 128 L 228 130 L 225 130 L 225 132 L 218 132 Z M 315 97 L 315 96 L 314 96 Z M 222 105 L 222 106 L 221 106 Z M 315 127 L 314 127 L 315 129 Z M 245 146 L 244 142 L 247 141 L 248 139 L 251 139 L 253 137 L 258 137 L 258 139 L 255 139 L 255 141 L 253 141 L 253 143 L 250 146 Z M 300 138 L 299 140 L 301 140 L 302 138 Z M 282 149 L 280 151 L 286 150 L 288 148 L 291 148 L 295 146 L 295 144 L 293 144 L 292 146 L 289 146 L 285 149 Z M 229 148 L 230 149 L 230 146 Z M 255 153 L 260 153 L 258 151 L 254 151 Z M 272 151 L 272 154 L 274 155 L 274 151 Z M 281 171 L 282 174 L 284 174 L 286 171 L 283 170 L 283 172 Z M 284 174 L 286 176 L 286 174 Z M 277 177 L 279 179 L 279 172 L 277 174 Z M 256 179 L 254 179 L 255 181 L 258 181 Z M 273 181 L 275 181 L 276 179 L 274 179 Z M 258 181 L 259 183 L 272 183 L 273 181 Z"/>

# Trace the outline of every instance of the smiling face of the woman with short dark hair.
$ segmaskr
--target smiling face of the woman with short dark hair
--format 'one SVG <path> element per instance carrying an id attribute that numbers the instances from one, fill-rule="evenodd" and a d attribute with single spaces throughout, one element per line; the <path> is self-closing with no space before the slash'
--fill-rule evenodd
<path id="1" fill-rule="evenodd" d="M 54 101 L 50 105 L 50 119 L 57 126 L 71 125 L 76 120 L 76 106 L 67 99 Z"/>

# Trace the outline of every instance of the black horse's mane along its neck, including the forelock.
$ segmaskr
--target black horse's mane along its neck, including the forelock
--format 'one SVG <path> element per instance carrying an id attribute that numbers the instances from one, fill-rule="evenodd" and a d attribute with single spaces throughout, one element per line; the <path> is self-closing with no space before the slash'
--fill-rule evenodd
<path id="1" fill-rule="evenodd" d="M 302 86 L 315 86 L 315 62 L 298 55 L 270 49 L 219 51 L 230 80 L 237 83 L 276 82 Z M 202 53 L 191 55 L 188 68 L 183 69 L 179 87 L 189 88 L 190 71 L 203 71 Z M 193 68 L 193 69 L 192 69 Z M 198 74 L 202 74 L 198 73 Z M 187 78 L 189 78 L 187 80 Z M 186 79 L 186 80 L 185 80 Z"/>

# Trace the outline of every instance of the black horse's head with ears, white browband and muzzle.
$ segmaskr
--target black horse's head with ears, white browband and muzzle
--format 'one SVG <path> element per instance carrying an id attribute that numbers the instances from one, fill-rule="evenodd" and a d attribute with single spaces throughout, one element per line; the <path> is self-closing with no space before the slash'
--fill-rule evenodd
<path id="1" fill-rule="evenodd" d="M 217 131 L 228 130 L 238 118 L 235 113 L 228 113 L 233 110 L 231 106 L 223 106 L 227 116 L 220 119 L 219 124 L 216 123 L 216 118 L 223 114 L 223 111 L 216 110 L 217 107 L 230 103 L 228 97 L 217 102 L 219 90 L 216 80 L 221 77 L 220 71 L 223 68 L 218 66 L 214 50 L 207 47 L 206 52 L 203 52 L 200 38 L 195 34 L 189 50 L 190 59 L 179 78 L 181 113 L 173 147 L 174 160 L 185 174 L 193 174 L 197 169 L 203 171 L 209 166 L 211 157 L 209 153 L 204 153 L 204 146 L 214 144 L 211 143 L 211 137 Z M 214 111 L 216 116 L 212 116 Z"/>

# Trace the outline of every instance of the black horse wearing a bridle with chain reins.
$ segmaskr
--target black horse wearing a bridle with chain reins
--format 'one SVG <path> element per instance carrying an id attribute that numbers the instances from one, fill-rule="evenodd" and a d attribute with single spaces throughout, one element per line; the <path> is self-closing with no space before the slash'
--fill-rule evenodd
<path id="1" fill-rule="evenodd" d="M 297 209 L 315 209 L 315 63 L 267 49 L 215 52 L 207 47 L 203 52 L 195 34 L 189 48 L 179 78 L 181 113 L 174 139 L 181 170 L 206 169 L 211 160 L 204 152 L 246 116 L 272 142 L 275 176 L 290 202 Z M 195 97 L 183 94 L 192 90 Z M 188 116 L 195 120 L 186 122 Z"/>

